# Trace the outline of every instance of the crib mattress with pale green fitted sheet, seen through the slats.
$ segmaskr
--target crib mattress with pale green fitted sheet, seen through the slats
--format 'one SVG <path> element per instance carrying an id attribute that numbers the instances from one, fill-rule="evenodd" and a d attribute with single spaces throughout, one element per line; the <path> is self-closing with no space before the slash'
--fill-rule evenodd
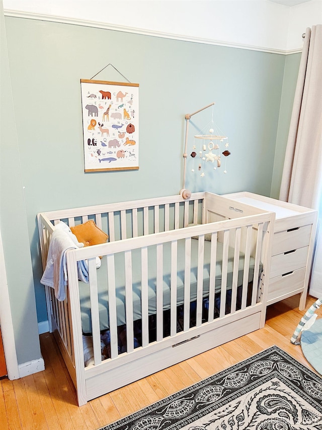
<path id="1" fill-rule="evenodd" d="M 203 265 L 203 297 L 209 295 L 209 270 L 210 270 L 210 241 L 205 241 L 204 265 Z M 163 244 L 163 309 L 170 309 L 170 280 L 171 280 L 171 243 Z M 222 249 L 221 242 L 217 242 L 215 292 L 220 292 L 221 272 L 222 272 Z M 233 271 L 233 248 L 228 250 L 227 268 L 227 290 L 231 289 Z M 239 255 L 238 281 L 237 286 L 243 284 L 244 277 L 244 254 Z M 248 275 L 248 282 L 254 277 L 255 259 L 251 258 Z M 197 297 L 197 266 L 198 266 L 198 240 L 191 240 L 191 270 L 190 270 L 190 301 Z M 177 260 L 177 304 L 184 302 L 184 273 L 185 273 L 185 240 L 178 240 L 178 260 Z M 99 291 L 99 316 L 100 329 L 109 328 L 109 306 L 108 306 L 108 282 L 107 282 L 107 261 L 102 259 L 102 265 L 97 270 L 98 291 Z M 133 284 L 133 320 L 141 318 L 141 253 L 140 250 L 132 251 L 132 284 Z M 125 273 L 124 254 L 115 254 L 115 285 L 116 285 L 116 306 L 117 324 L 125 324 Z M 82 329 L 83 333 L 92 332 L 91 323 L 91 301 L 89 284 L 79 281 L 79 295 L 81 300 Z M 148 312 L 149 315 L 156 313 L 156 247 L 148 247 Z"/>

